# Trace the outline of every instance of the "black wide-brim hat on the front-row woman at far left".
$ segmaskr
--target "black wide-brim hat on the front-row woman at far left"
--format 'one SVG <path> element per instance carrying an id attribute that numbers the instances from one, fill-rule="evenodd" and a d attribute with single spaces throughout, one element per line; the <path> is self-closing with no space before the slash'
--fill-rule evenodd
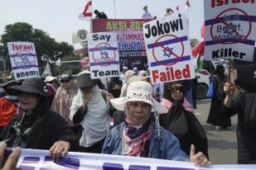
<path id="1" fill-rule="evenodd" d="M 46 83 L 41 78 L 27 78 L 21 86 L 8 87 L 7 93 L 10 95 L 18 95 L 21 92 L 31 92 L 39 94 L 43 97 L 47 96 Z"/>

